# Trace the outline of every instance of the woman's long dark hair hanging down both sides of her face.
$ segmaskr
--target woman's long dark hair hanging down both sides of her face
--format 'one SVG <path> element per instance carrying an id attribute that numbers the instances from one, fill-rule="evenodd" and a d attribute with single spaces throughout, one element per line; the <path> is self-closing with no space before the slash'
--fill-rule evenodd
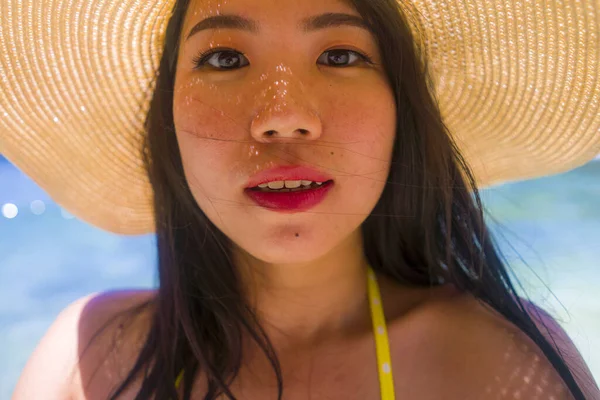
<path id="1" fill-rule="evenodd" d="M 199 371 L 205 400 L 225 394 L 240 370 L 242 337 L 250 335 L 272 363 L 275 351 L 240 295 L 232 243 L 199 208 L 186 182 L 173 122 L 179 37 L 189 0 L 176 2 L 167 28 L 142 149 L 154 189 L 159 289 L 150 330 L 137 361 L 112 394 L 143 375 L 138 399 L 177 398 L 184 369 L 189 399 Z M 389 181 L 362 224 L 364 251 L 377 272 L 419 286 L 453 283 L 497 310 L 543 351 L 576 399 L 584 399 L 567 364 L 542 335 L 517 295 L 484 222 L 471 171 L 442 121 L 416 45 L 396 0 L 351 0 L 375 33 L 397 104 Z"/>

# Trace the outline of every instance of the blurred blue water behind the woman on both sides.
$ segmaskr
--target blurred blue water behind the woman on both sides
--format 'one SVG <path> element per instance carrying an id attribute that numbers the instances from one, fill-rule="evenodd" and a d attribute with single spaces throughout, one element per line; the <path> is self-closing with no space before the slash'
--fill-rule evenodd
<path id="1" fill-rule="evenodd" d="M 482 191 L 525 293 L 567 331 L 600 382 L 600 160 Z M 0 399 L 58 313 L 93 292 L 156 285 L 154 236 L 73 218 L 0 156 Z"/>

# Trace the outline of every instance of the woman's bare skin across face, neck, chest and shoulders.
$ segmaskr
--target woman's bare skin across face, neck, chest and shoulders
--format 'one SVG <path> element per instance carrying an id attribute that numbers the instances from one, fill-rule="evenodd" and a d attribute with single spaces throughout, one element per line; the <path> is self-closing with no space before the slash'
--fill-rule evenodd
<path id="1" fill-rule="evenodd" d="M 304 17 L 357 15 L 354 10 L 333 0 L 286 4 L 191 2 L 183 35 L 217 12 L 256 19 L 260 33 L 229 29 L 182 39 L 173 109 L 177 139 L 196 201 L 235 243 L 248 299 L 278 352 L 285 399 L 375 400 L 379 382 L 359 227 L 389 171 L 392 91 L 380 65 L 317 63 L 323 52 L 344 48 L 367 52 L 380 64 L 368 32 L 296 29 Z M 211 46 L 241 51 L 249 65 L 231 72 L 194 70 L 192 59 Z M 246 180 L 258 170 L 298 162 L 329 172 L 336 182 L 310 212 L 280 214 L 244 197 Z M 541 350 L 472 296 L 449 285 L 413 288 L 378 279 L 397 398 L 570 399 Z M 71 304 L 31 356 L 13 399 L 106 399 L 133 366 L 152 309 L 94 334 L 118 311 L 155 294 L 109 292 Z M 557 335 L 570 366 L 581 371 L 586 398 L 600 399 L 589 369 L 556 321 L 543 314 L 535 322 Z M 274 398 L 272 370 L 255 350 L 250 346 L 245 353 L 232 390 L 241 399 Z M 122 398 L 133 399 L 139 385 L 135 380 Z M 205 389 L 199 376 L 192 397 L 203 398 Z"/>

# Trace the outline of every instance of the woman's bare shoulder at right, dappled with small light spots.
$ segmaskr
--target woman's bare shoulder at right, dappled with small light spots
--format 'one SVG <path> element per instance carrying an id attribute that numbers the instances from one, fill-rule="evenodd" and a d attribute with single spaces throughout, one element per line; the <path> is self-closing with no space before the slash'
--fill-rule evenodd
<path id="1" fill-rule="evenodd" d="M 556 343 L 586 399 L 599 400 L 591 372 L 566 332 L 541 308 L 521 300 L 542 334 L 552 336 L 550 343 Z M 537 344 L 484 302 L 461 294 L 431 310 L 440 328 L 436 353 L 443 355 L 436 376 L 456 398 L 572 398 Z"/>

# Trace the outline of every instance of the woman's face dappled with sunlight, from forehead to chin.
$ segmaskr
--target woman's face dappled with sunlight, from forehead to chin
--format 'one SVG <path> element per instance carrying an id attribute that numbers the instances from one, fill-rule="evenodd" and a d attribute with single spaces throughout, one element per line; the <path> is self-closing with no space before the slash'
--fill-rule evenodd
<path id="1" fill-rule="evenodd" d="M 350 25 L 305 29 L 325 13 L 360 17 L 339 0 L 190 0 L 184 21 L 173 112 L 186 179 L 208 218 L 269 263 L 310 262 L 359 235 L 390 169 L 396 105 L 376 38 Z M 252 22 L 189 36 L 225 15 Z M 248 196 L 255 174 L 295 165 L 333 179 L 321 202 L 275 210 Z"/>

